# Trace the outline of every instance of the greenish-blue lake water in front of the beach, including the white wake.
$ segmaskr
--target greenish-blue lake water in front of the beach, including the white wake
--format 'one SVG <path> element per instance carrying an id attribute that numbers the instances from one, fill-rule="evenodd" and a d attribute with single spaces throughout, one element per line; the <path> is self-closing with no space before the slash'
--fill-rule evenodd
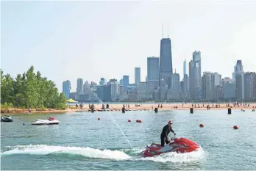
<path id="1" fill-rule="evenodd" d="M 56 117 L 60 125 L 29 125 L 37 118 L 48 116 Z M 1 170 L 256 168 L 256 112 L 251 110 L 232 110 L 232 114 L 227 114 L 227 110 L 195 109 L 193 114 L 175 110 L 157 114 L 152 111 L 74 112 L 12 117 L 13 123 L 1 123 Z M 127 122 L 129 119 L 131 123 Z M 137 119 L 142 123 L 136 123 Z M 193 153 L 141 158 L 145 145 L 160 142 L 160 133 L 168 120 L 174 121 L 177 137 L 191 139 L 202 148 Z M 200 123 L 205 127 L 200 128 Z M 233 125 L 239 129 L 233 129 Z"/>

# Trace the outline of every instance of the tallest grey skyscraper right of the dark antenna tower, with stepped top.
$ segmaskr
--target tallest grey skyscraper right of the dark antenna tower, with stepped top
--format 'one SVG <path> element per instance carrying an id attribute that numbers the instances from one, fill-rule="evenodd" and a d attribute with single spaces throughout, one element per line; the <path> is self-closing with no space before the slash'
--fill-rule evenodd
<path id="1" fill-rule="evenodd" d="M 189 62 L 189 87 L 191 99 L 202 98 L 202 78 L 201 78 L 201 52 L 193 52 L 193 60 Z"/>

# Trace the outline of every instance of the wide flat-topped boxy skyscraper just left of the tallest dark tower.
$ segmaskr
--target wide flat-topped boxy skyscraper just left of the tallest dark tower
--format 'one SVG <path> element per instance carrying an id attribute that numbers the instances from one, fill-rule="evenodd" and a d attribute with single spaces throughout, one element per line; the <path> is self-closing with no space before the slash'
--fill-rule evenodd
<path id="1" fill-rule="evenodd" d="M 146 76 L 147 88 L 159 86 L 159 57 L 147 58 L 147 76 Z"/>

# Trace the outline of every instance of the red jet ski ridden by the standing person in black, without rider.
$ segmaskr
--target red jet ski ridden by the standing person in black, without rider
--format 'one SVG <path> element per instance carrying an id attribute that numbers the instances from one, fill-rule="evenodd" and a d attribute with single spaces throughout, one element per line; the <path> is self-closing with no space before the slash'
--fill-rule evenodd
<path id="1" fill-rule="evenodd" d="M 142 156 L 152 157 L 169 152 L 190 153 L 200 148 L 200 145 L 196 144 L 196 142 L 192 142 L 189 139 L 173 137 L 171 140 L 172 142 L 164 147 L 155 143 L 152 143 L 152 145 L 146 145 L 146 150 L 143 150 Z"/>

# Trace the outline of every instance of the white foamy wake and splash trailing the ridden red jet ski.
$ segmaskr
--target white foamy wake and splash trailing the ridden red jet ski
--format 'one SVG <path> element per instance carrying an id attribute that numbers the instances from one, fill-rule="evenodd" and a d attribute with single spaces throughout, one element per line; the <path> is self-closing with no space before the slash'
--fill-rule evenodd
<path id="1" fill-rule="evenodd" d="M 90 159 L 107 159 L 118 161 L 155 161 L 155 162 L 188 162 L 196 161 L 205 158 L 205 152 L 200 148 L 196 152 L 191 153 L 164 153 L 160 156 L 142 158 L 132 156 L 132 151 L 136 150 L 141 153 L 143 149 L 119 149 L 119 150 L 99 150 L 94 148 L 82 147 L 65 147 L 65 146 L 51 146 L 51 145 L 16 145 L 7 146 L 1 149 L 1 157 L 10 155 L 52 155 L 60 156 L 64 154 L 83 156 Z M 134 155 L 134 153 L 133 153 Z"/>

